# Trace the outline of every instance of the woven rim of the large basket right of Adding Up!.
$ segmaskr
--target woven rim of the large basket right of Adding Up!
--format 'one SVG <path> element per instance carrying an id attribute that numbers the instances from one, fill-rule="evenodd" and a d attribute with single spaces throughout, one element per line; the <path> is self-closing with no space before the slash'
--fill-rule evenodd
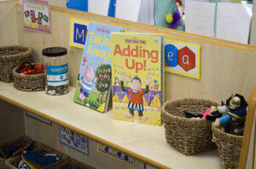
<path id="1" fill-rule="evenodd" d="M 170 103 L 172 103 L 172 102 L 177 102 L 177 101 L 182 101 L 182 100 L 184 100 L 184 99 L 199 99 L 199 100 L 203 100 L 203 101 L 209 101 L 209 102 L 212 102 L 212 103 L 214 103 L 214 104 L 218 104 L 217 102 L 215 102 L 215 101 L 212 101 L 212 100 L 210 100 L 210 99 L 201 99 L 201 98 L 182 98 L 182 99 L 171 99 L 171 100 L 168 100 L 168 101 L 166 101 L 166 103 L 165 104 L 163 104 L 163 106 L 162 106 L 162 108 L 161 108 L 161 111 L 162 111 L 162 114 L 165 116 L 166 115 L 166 117 L 169 117 L 169 118 L 172 118 L 172 119 L 175 119 L 175 121 L 186 121 L 186 122 L 189 122 L 189 121 L 193 121 L 193 123 L 196 123 L 196 122 L 198 122 L 198 123 L 201 123 L 202 121 L 207 121 L 207 119 L 189 119 L 189 118 L 186 118 L 186 117 L 181 117 L 181 116 L 177 116 L 177 115 L 172 115 L 172 114 L 170 114 L 170 113 L 168 113 L 168 112 L 166 112 L 166 110 L 165 110 L 165 108 L 166 108 L 166 105 L 167 104 L 170 104 Z M 219 105 L 219 104 L 218 104 Z M 163 116 L 163 117 L 164 117 Z M 164 119 L 165 120 L 165 119 Z"/>

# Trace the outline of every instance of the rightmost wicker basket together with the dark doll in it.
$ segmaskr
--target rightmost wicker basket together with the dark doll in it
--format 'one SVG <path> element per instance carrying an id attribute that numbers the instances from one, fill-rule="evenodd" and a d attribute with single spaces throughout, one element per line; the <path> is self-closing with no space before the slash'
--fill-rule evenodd
<path id="1" fill-rule="evenodd" d="M 218 118 L 212 123 L 212 141 L 217 144 L 222 165 L 238 168 L 247 101 L 240 94 L 232 94 L 214 114 Z"/>

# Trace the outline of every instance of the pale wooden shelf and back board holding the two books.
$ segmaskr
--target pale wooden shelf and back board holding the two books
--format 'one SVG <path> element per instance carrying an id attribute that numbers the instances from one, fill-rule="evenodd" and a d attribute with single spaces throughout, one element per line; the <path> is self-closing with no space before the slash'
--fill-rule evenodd
<path id="1" fill-rule="evenodd" d="M 50 6 L 52 34 L 46 35 L 23 29 L 22 6 L 17 2 L 0 3 L 0 23 L 3 23 L 0 26 L 0 46 L 18 44 L 31 47 L 35 62 L 42 62 L 43 48 L 67 48 L 72 87 L 66 95 L 48 96 L 44 92 L 21 92 L 13 87 L 13 83 L 0 82 L 0 99 L 158 168 L 221 168 L 218 150 L 199 155 L 182 155 L 166 144 L 163 126 L 116 121 L 112 119 L 111 108 L 107 113 L 101 114 L 73 103 L 73 86 L 77 80 L 83 50 L 69 46 L 70 18 L 113 25 L 128 31 L 164 34 L 166 39 L 201 45 L 201 79 L 195 80 L 166 72 L 166 100 L 193 97 L 220 102 L 232 93 L 241 93 L 249 99 L 256 79 L 256 46 L 53 5 Z"/>

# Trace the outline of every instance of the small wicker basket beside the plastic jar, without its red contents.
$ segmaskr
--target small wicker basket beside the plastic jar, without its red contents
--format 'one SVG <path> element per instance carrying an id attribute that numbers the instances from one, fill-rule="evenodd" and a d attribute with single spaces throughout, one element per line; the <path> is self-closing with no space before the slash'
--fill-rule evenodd
<path id="1" fill-rule="evenodd" d="M 44 90 L 45 74 L 22 75 L 18 73 L 17 67 L 13 70 L 15 78 L 15 88 L 26 92 L 36 92 Z"/>

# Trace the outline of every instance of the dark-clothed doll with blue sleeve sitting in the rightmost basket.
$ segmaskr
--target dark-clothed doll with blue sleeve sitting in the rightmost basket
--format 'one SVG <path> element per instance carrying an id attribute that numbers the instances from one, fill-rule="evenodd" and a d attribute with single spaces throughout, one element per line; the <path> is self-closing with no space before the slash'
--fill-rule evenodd
<path id="1" fill-rule="evenodd" d="M 218 111 L 223 114 L 214 122 L 216 127 L 226 132 L 242 135 L 247 115 L 247 101 L 240 94 L 233 94 L 226 100 L 226 104 L 219 107 Z"/>

